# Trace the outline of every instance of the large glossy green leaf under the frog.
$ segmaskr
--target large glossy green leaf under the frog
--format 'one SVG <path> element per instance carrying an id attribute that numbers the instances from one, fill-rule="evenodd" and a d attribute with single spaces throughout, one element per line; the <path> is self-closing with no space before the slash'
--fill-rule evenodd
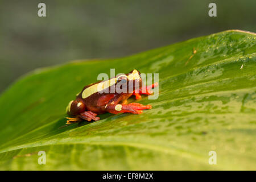
<path id="1" fill-rule="evenodd" d="M 36 70 L 0 97 L 0 169 L 256 169 L 255 43 L 253 33 L 225 31 Z M 110 68 L 159 73 L 159 98 L 138 101 L 153 108 L 61 127 L 68 102 Z"/>

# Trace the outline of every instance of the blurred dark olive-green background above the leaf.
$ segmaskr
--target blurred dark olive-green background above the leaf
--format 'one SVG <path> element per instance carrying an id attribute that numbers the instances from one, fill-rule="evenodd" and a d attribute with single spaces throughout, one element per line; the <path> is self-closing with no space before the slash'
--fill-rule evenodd
<path id="1" fill-rule="evenodd" d="M 38 17 L 40 2 L 47 17 Z M 210 2 L 217 17 L 208 16 Z M 256 32 L 255 7 L 255 0 L 1 0 L 0 93 L 35 68 L 131 55 L 229 29 Z"/>

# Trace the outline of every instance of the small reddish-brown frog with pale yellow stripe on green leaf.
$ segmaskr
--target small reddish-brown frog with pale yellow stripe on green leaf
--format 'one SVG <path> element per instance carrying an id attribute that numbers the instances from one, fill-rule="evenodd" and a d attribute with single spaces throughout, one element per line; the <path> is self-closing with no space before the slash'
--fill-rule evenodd
<path id="1" fill-rule="evenodd" d="M 142 114 L 143 110 L 151 109 L 152 105 L 142 105 L 137 102 L 127 104 L 128 98 L 135 96 L 141 99 L 142 94 L 154 93 L 152 88 L 158 86 L 158 82 L 144 86 L 141 72 L 133 69 L 127 74 L 120 74 L 109 80 L 98 81 L 84 86 L 76 99 L 67 106 L 67 124 L 80 121 L 98 121 L 98 114 L 103 113 L 132 113 Z M 114 90 L 114 91 L 113 91 Z M 112 92 L 111 92 L 112 91 Z"/>

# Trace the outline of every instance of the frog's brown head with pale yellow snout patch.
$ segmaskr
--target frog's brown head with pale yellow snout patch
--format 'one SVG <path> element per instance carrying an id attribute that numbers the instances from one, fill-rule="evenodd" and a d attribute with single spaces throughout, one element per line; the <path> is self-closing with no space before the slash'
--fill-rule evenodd
<path id="1" fill-rule="evenodd" d="M 142 86 L 141 73 L 134 69 L 133 71 L 116 77 L 117 84 L 115 85 L 115 90 L 118 92 L 122 90 L 126 93 L 133 93 L 134 90 L 138 90 Z"/>

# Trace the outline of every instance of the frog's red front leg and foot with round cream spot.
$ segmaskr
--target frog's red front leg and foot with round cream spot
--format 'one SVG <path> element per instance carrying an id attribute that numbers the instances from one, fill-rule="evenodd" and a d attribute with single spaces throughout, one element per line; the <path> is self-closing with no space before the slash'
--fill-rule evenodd
<path id="1" fill-rule="evenodd" d="M 113 114 L 118 113 L 133 113 L 133 114 L 141 114 L 144 109 L 151 109 L 151 105 L 142 105 L 139 103 L 130 103 L 130 104 L 110 104 L 106 106 L 106 111 Z"/>

